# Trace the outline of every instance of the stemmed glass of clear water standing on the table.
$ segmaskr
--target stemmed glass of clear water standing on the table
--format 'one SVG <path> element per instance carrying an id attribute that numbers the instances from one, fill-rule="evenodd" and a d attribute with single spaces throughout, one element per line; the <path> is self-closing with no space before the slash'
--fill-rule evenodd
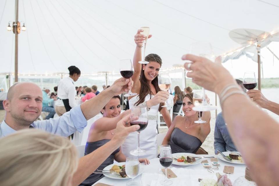
<path id="1" fill-rule="evenodd" d="M 136 156 L 127 157 L 125 164 L 125 172 L 129 178 L 132 178 L 132 180 L 129 180 L 127 182 L 126 186 L 140 186 L 140 183 L 134 182 L 134 178 L 137 177 L 137 175 L 140 172 L 139 158 L 137 158 Z"/>

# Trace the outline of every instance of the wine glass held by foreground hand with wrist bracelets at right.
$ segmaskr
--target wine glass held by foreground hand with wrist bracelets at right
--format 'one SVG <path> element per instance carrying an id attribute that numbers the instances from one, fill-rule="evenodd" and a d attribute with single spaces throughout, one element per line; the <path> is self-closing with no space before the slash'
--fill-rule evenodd
<path id="1" fill-rule="evenodd" d="M 196 42 L 191 44 L 191 53 L 196 55 L 196 56 L 201 56 L 204 58 L 207 58 L 211 61 L 215 60 L 215 56 L 212 51 L 211 44 L 208 42 Z M 203 91 L 203 101 L 202 104 L 193 107 L 193 110 L 195 111 L 210 111 L 210 110 L 216 110 L 217 106 L 210 105 L 206 101 L 205 97 L 205 89 L 202 88 Z"/>

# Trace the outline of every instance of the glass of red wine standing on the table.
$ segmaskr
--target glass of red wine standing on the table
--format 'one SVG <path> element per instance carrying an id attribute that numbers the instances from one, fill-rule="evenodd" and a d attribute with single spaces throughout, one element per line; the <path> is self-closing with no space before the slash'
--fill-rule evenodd
<path id="1" fill-rule="evenodd" d="M 167 177 L 167 168 L 172 164 L 172 154 L 169 146 L 161 146 L 160 150 L 160 164 L 165 167 L 166 178 L 160 181 L 161 185 L 171 185 L 172 181 Z"/>

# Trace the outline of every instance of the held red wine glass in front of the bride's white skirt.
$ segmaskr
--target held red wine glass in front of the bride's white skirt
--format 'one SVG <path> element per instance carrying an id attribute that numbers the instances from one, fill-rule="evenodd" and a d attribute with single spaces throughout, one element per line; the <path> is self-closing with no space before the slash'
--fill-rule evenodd
<path id="1" fill-rule="evenodd" d="M 148 124 L 148 116 L 146 107 L 136 106 L 132 108 L 130 115 L 130 125 L 139 125 L 140 129 L 137 130 L 137 149 L 131 150 L 130 154 L 134 156 L 145 155 L 146 151 L 140 149 L 140 131 L 144 130 Z"/>

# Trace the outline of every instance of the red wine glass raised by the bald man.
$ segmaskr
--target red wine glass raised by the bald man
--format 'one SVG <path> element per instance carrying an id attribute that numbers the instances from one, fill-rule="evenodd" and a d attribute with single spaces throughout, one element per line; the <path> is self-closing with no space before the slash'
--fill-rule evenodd
<path id="1" fill-rule="evenodd" d="M 121 74 L 122 77 L 124 77 L 126 79 L 129 79 L 130 77 L 133 76 L 134 66 L 133 66 L 133 63 L 130 59 L 120 60 L 119 66 L 120 66 L 119 67 L 120 74 Z M 133 93 L 133 92 L 131 92 L 131 90 L 129 90 L 129 92 L 127 94 L 125 94 L 124 96 L 128 97 L 128 96 L 135 96 L 135 95 L 137 95 L 137 94 Z"/>

